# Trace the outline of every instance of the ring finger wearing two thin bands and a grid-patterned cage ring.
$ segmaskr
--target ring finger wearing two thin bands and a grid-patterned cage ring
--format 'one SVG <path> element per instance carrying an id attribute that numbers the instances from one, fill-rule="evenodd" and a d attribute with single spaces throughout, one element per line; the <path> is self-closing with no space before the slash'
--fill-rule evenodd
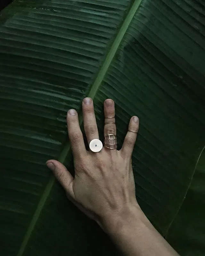
<path id="1" fill-rule="evenodd" d="M 104 137 L 108 135 L 116 135 L 116 125 L 115 125 L 115 103 L 111 99 L 107 99 L 104 102 L 104 115 L 105 115 L 105 125 L 104 125 Z M 114 144 L 114 136 L 112 136 L 109 144 Z M 111 149 L 115 148 L 115 145 L 109 146 Z"/>

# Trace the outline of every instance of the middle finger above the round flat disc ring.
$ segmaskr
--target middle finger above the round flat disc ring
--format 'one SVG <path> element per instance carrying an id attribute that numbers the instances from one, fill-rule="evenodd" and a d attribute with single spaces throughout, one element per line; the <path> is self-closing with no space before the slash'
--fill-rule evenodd
<path id="1" fill-rule="evenodd" d="M 97 123 L 94 114 L 93 100 L 91 98 L 85 98 L 82 103 L 82 108 L 84 130 L 89 145 L 91 140 L 99 139 Z"/>

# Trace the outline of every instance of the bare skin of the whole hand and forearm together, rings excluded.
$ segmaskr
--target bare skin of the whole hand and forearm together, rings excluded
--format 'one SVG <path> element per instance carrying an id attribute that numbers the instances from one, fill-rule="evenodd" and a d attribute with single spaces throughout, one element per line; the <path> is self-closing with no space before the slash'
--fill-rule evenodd
<path id="1" fill-rule="evenodd" d="M 89 144 L 91 140 L 99 139 L 91 98 L 83 100 L 82 110 Z M 104 102 L 104 115 L 104 136 L 116 134 L 113 100 Z M 103 147 L 98 153 L 86 150 L 78 114 L 73 109 L 68 111 L 67 124 L 75 178 L 56 160 L 48 160 L 46 164 L 65 189 L 68 198 L 100 225 L 124 255 L 178 255 L 146 218 L 135 197 L 131 158 L 139 119 L 136 116 L 130 119 L 128 129 L 136 133 L 127 131 L 120 150 Z"/>

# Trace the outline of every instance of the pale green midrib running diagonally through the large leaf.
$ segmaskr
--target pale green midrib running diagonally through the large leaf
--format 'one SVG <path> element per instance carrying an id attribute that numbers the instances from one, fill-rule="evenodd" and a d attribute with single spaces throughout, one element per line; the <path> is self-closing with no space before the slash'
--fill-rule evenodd
<path id="1" fill-rule="evenodd" d="M 107 70 L 108 68 L 110 67 L 111 65 L 111 62 L 119 48 L 119 45 L 120 43 L 122 42 L 122 39 L 136 13 L 136 11 L 138 10 L 140 4 L 141 4 L 142 0 L 135 0 L 132 4 L 132 6 L 130 7 L 129 9 L 129 12 L 127 13 L 127 16 L 124 20 L 124 22 L 122 23 L 107 55 L 106 55 L 106 58 L 102 64 L 102 67 L 101 69 L 99 70 L 95 80 L 94 80 L 94 83 L 93 85 L 91 86 L 90 88 L 90 92 L 89 94 L 87 95 L 87 97 L 91 97 L 91 98 L 94 98 L 102 81 L 103 81 L 103 78 L 105 77 L 106 73 L 107 73 Z M 82 118 L 82 111 L 79 113 L 79 123 L 80 125 L 82 124 L 82 121 L 83 121 L 83 118 Z M 62 152 L 58 158 L 58 161 L 64 163 L 65 159 L 67 158 L 67 155 L 70 153 L 70 150 L 71 150 L 71 147 L 70 147 L 70 143 L 67 143 L 64 148 L 62 149 Z M 45 202 L 50 194 L 50 191 L 53 187 L 53 184 L 54 184 L 54 181 L 55 181 L 55 178 L 53 176 L 53 174 L 51 174 L 50 178 L 49 178 L 49 181 L 45 187 L 45 190 L 40 198 L 40 201 L 37 205 L 37 208 L 36 208 L 36 211 L 34 212 L 34 215 L 31 219 L 31 222 L 29 224 L 29 227 L 27 229 L 27 232 L 23 238 L 23 241 L 22 241 L 22 244 L 20 246 L 20 249 L 19 249 L 19 252 L 17 253 L 17 256 L 22 256 L 22 254 L 24 253 L 25 251 L 25 248 L 29 242 L 29 239 L 30 239 L 30 236 L 33 232 L 33 229 L 37 223 L 37 220 L 40 216 L 40 213 L 45 205 Z"/>

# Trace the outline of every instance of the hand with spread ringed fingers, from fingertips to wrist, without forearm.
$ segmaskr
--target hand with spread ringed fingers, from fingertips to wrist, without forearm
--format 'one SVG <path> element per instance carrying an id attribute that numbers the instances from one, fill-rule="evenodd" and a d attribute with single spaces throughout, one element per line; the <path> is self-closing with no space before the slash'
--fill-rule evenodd
<path id="1" fill-rule="evenodd" d="M 84 129 L 88 144 L 99 139 L 91 98 L 82 103 Z M 116 135 L 115 107 L 111 99 L 104 102 L 104 136 Z M 113 117 L 113 118 L 107 118 Z M 109 124 L 111 123 L 111 124 Z M 131 156 L 139 128 L 139 119 L 130 119 L 129 130 L 121 150 L 103 147 L 98 153 L 87 151 L 74 109 L 67 114 L 68 134 L 74 155 L 75 178 L 63 164 L 55 160 L 47 166 L 64 187 L 68 198 L 104 230 L 127 209 L 139 207 L 135 197 L 135 181 Z"/>

